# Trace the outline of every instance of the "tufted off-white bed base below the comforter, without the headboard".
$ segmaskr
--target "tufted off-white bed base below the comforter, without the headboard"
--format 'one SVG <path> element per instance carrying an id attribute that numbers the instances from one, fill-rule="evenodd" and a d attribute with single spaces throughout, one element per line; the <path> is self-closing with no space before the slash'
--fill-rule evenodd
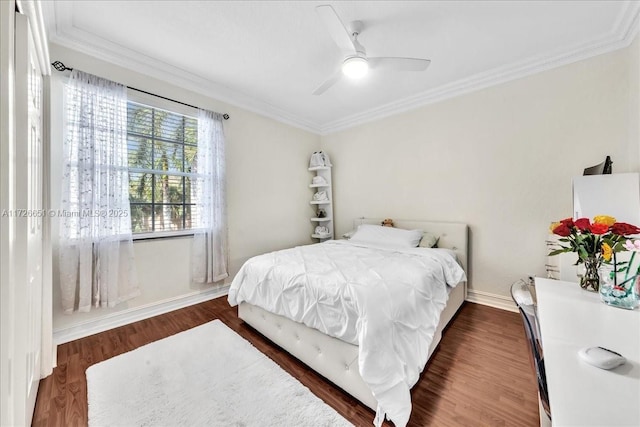
<path id="1" fill-rule="evenodd" d="M 466 294 L 466 283 L 460 283 L 449 294 L 429 348 L 429 358 L 442 338 L 443 329 L 462 306 Z M 376 399 L 358 370 L 358 346 L 248 303 L 238 306 L 238 317 L 351 396 L 376 410 Z"/>

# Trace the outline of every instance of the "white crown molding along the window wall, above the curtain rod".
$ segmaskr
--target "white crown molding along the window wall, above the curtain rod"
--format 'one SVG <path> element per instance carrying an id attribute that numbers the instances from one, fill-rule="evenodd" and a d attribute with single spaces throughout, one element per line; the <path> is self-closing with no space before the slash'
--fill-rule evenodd
<path id="1" fill-rule="evenodd" d="M 107 41 L 72 24 L 72 2 L 47 2 L 49 41 L 85 55 L 168 82 L 238 108 L 268 117 L 278 122 L 314 133 L 320 133 L 315 123 L 291 114 L 268 102 L 238 90 L 215 83 L 179 67 L 143 55 Z M 73 64 L 66 64 L 73 67 Z M 126 82 L 120 82 L 126 84 Z"/>

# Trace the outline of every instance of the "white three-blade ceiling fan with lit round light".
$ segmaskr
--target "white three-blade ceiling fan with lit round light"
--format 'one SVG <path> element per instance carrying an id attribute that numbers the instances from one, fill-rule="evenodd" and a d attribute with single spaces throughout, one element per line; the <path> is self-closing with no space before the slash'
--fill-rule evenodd
<path id="1" fill-rule="evenodd" d="M 316 7 L 316 13 L 324 22 L 329 34 L 338 47 L 345 52 L 342 66 L 315 91 L 314 95 L 321 95 L 336 84 L 342 76 L 351 78 L 364 77 L 369 68 L 389 68 L 397 71 L 424 71 L 431 63 L 428 59 L 396 58 L 396 57 L 368 57 L 364 46 L 358 42 L 358 35 L 362 32 L 362 21 L 353 21 L 351 30 L 347 30 L 338 14 L 329 5 Z"/>

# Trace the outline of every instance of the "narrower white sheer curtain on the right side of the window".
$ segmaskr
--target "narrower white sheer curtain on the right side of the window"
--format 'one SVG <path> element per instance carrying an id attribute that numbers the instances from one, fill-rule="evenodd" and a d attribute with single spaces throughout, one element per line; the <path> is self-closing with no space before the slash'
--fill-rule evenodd
<path id="1" fill-rule="evenodd" d="M 222 115 L 198 110 L 198 158 L 192 182 L 196 205 L 192 278 L 196 283 L 217 282 L 227 273 L 227 210 L 225 150 Z"/>

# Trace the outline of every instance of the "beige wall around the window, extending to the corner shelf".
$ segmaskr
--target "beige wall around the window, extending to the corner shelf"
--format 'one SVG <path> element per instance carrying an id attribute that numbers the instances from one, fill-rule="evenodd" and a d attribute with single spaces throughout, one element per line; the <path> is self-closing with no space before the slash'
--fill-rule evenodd
<path id="1" fill-rule="evenodd" d="M 309 225 L 309 156 L 320 146 L 318 135 L 132 72 L 96 58 L 51 46 L 52 60 L 213 111 L 228 113 L 227 202 L 231 277 L 253 255 L 311 243 Z M 59 203 L 62 151 L 62 85 L 66 74 L 52 78 L 52 199 Z M 57 207 L 54 205 L 54 207 Z M 54 224 L 54 241 L 57 236 Z M 54 328 L 68 328 L 110 312 L 147 307 L 206 290 L 190 283 L 190 238 L 136 242 L 134 246 L 142 295 L 113 310 L 64 316 L 57 299 L 54 272 Z"/>

